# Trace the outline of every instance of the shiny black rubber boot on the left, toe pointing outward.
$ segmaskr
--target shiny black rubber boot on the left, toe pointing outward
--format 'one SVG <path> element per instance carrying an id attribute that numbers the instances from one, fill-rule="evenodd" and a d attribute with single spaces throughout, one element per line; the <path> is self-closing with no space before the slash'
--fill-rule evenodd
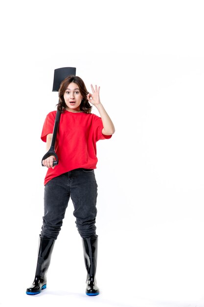
<path id="1" fill-rule="evenodd" d="M 46 288 L 46 273 L 50 264 L 51 254 L 54 247 L 55 240 L 53 239 L 39 239 L 38 262 L 33 284 L 27 288 L 26 294 L 39 294 L 41 290 Z"/>

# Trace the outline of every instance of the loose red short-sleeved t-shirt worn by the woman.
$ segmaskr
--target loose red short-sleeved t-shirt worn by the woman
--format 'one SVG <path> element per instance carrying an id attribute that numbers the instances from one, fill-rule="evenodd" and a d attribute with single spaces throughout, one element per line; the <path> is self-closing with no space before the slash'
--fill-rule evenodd
<path id="1" fill-rule="evenodd" d="M 56 111 L 47 114 L 41 139 L 53 132 Z M 102 134 L 103 124 L 100 117 L 84 112 L 73 113 L 67 110 L 61 114 L 57 132 L 55 152 L 58 165 L 48 168 L 45 182 L 76 168 L 95 169 L 97 164 L 96 142 L 110 139 L 112 135 Z"/>

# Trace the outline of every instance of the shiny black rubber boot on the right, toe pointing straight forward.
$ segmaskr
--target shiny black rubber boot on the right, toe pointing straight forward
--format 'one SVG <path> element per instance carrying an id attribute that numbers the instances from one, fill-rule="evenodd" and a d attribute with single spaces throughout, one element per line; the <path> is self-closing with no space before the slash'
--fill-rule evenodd
<path id="1" fill-rule="evenodd" d="M 86 294 L 94 296 L 99 294 L 99 288 L 96 284 L 96 266 L 98 253 L 98 237 L 82 239 L 84 260 L 87 269 L 87 287 Z"/>

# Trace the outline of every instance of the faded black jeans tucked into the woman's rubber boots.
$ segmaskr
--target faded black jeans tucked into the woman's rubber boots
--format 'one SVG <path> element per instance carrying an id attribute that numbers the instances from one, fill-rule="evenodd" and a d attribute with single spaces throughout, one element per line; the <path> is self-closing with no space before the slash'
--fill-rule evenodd
<path id="1" fill-rule="evenodd" d="M 45 185 L 44 216 L 41 236 L 57 239 L 68 201 L 74 205 L 73 215 L 82 238 L 96 236 L 97 183 L 94 170 L 75 169 L 48 181 Z"/>

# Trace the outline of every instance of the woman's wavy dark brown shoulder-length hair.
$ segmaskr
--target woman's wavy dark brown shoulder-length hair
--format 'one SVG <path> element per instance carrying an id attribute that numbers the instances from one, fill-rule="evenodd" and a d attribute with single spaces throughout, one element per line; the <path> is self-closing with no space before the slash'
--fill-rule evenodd
<path id="1" fill-rule="evenodd" d="M 82 95 L 82 102 L 80 104 L 80 110 L 84 113 L 91 113 L 92 106 L 87 99 L 87 94 L 89 92 L 87 91 L 84 81 L 80 77 L 77 77 L 77 76 L 69 76 L 65 78 L 60 84 L 60 89 L 58 92 L 59 102 L 57 104 L 57 109 L 61 113 L 63 113 L 64 110 L 66 109 L 67 106 L 64 100 L 64 94 L 65 94 L 66 89 L 68 88 L 69 83 L 71 82 L 76 83 L 78 85 L 79 91 Z"/>

